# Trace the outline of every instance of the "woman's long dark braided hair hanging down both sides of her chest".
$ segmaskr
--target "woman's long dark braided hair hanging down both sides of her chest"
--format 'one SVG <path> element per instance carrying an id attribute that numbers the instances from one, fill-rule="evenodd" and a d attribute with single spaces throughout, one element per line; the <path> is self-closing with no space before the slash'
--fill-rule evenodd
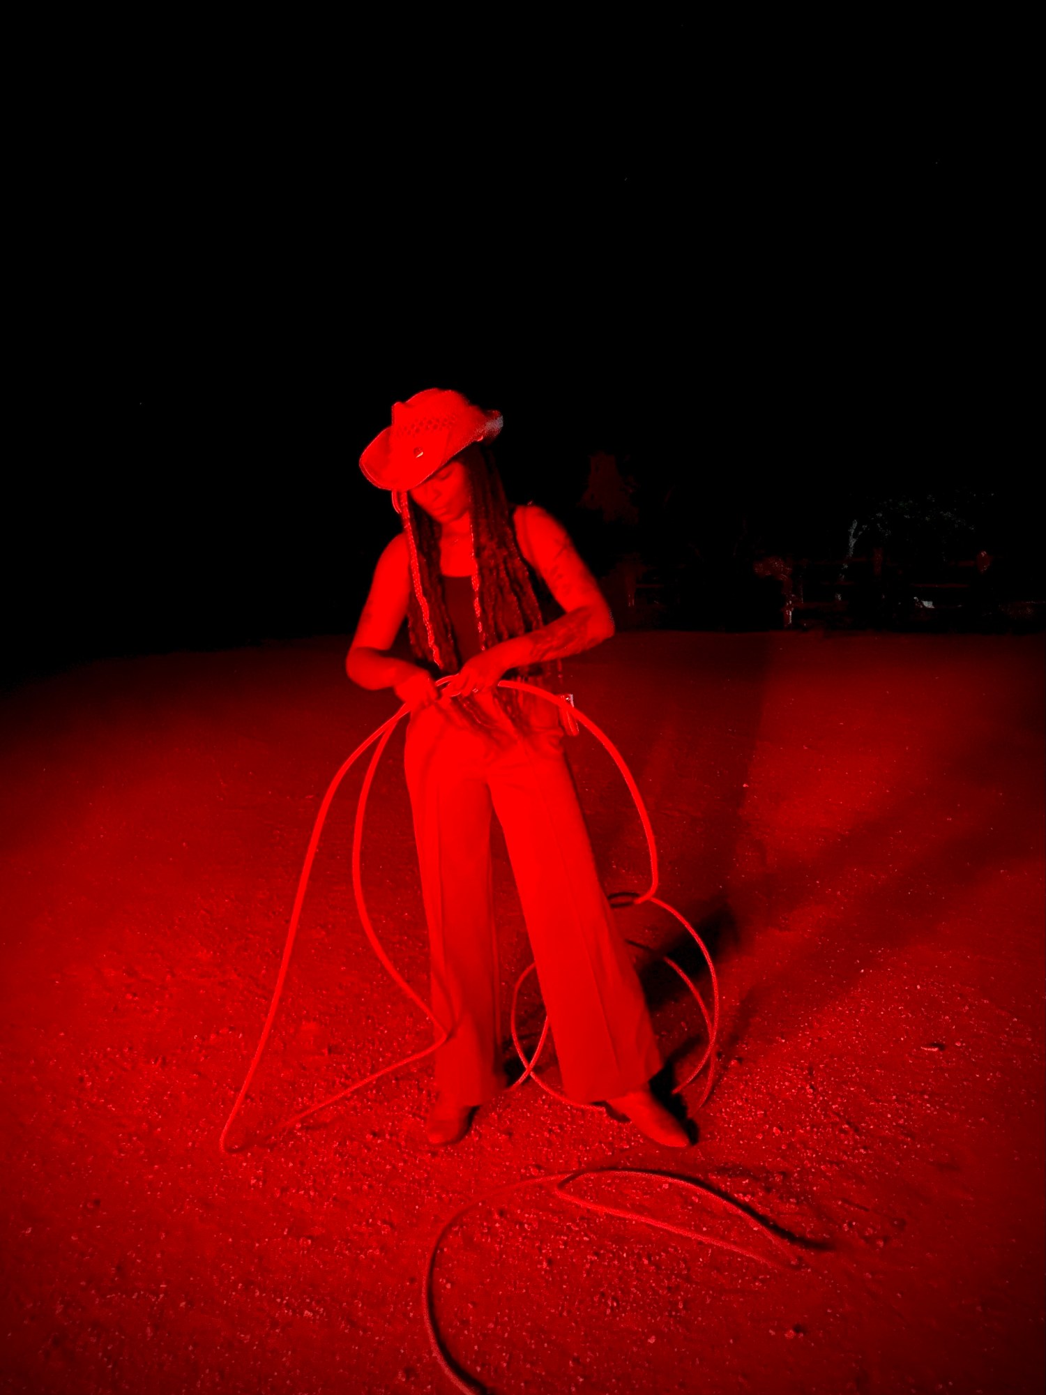
<path id="1" fill-rule="evenodd" d="M 540 628 L 544 617 L 516 541 L 505 487 L 492 455 L 478 445 L 470 445 L 456 459 L 467 470 L 471 491 L 473 610 L 480 649 L 491 649 L 505 639 Z M 409 492 L 397 491 L 393 502 L 403 522 L 410 555 L 410 647 L 427 665 L 434 665 L 444 674 L 457 672 L 462 658 L 444 594 L 439 526 L 414 504 Z M 558 660 L 554 664 L 524 664 L 510 672 L 541 688 L 551 688 L 556 681 L 562 688 L 562 664 Z M 492 696 L 516 731 L 534 730 L 520 702 L 524 695 L 515 689 L 494 688 Z M 478 703 L 466 696 L 459 702 L 473 725 L 492 727 Z"/>

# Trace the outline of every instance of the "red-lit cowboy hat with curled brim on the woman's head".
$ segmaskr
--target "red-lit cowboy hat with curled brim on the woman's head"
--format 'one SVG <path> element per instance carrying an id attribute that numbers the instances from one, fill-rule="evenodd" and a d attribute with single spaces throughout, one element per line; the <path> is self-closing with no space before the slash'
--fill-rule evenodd
<path id="1" fill-rule="evenodd" d="M 492 441 L 499 412 L 474 407 L 460 392 L 427 388 L 392 407 L 392 425 L 371 441 L 360 469 L 379 490 L 413 490 L 476 441 Z"/>

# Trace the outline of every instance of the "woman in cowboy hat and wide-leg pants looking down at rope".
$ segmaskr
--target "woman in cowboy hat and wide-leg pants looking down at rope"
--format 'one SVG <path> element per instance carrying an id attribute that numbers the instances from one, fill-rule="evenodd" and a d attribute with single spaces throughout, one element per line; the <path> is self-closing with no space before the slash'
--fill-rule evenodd
<path id="1" fill-rule="evenodd" d="M 686 1147 L 650 1092 L 661 1069 L 650 1016 L 614 923 L 555 704 L 498 689 L 505 674 L 548 685 L 554 661 L 614 633 L 563 527 L 534 505 L 509 511 L 481 442 L 501 430 L 457 392 L 397 402 L 360 466 L 392 491 L 403 531 L 378 559 L 346 658 L 361 688 L 410 707 L 404 766 L 431 943 L 432 1144 L 456 1143 L 505 1085 L 491 883 L 491 810 L 502 824 L 565 1092 L 605 1101 L 647 1137 Z M 527 568 L 562 605 L 549 625 Z M 388 653 L 409 621 L 409 663 Z M 437 688 L 434 675 L 452 674 Z"/>

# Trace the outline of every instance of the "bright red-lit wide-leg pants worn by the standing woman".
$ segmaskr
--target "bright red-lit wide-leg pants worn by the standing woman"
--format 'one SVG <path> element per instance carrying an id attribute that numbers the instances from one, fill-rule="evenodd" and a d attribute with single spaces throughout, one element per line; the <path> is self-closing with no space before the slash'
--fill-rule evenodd
<path id="1" fill-rule="evenodd" d="M 478 699 L 494 713 L 490 695 Z M 505 833 L 565 1092 L 611 1099 L 662 1066 L 628 947 L 596 869 L 556 709 L 527 698 L 534 735 L 462 728 L 441 704 L 404 746 L 431 946 L 441 1094 L 480 1105 L 505 1084 L 491 810 Z"/>

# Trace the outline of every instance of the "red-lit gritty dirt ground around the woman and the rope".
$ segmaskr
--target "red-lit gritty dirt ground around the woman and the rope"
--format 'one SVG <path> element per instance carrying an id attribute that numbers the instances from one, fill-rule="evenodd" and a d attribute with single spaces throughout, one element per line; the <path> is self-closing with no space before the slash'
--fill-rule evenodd
<path id="1" fill-rule="evenodd" d="M 748 1204 L 798 1267 L 543 1187 L 477 1205 L 435 1302 L 487 1388 L 1042 1388 L 1042 638 L 628 632 L 568 663 L 649 804 L 661 894 L 722 979 L 721 1073 L 689 1151 L 533 1083 L 430 1149 L 425 1062 L 223 1156 L 319 799 L 395 710 L 349 684 L 344 647 L 114 660 L 3 699 L 3 1389 L 449 1391 L 420 1306 L 442 1222 L 502 1184 L 614 1165 Z M 402 741 L 364 876 L 425 993 Z M 642 889 L 623 784 L 590 737 L 569 749 L 607 889 Z M 360 777 L 237 1143 L 430 1041 L 353 907 Z M 529 954 L 497 854 L 508 985 Z M 658 954 L 697 960 L 655 908 L 619 922 L 649 946 L 679 1069 L 700 1020 Z M 531 996 L 530 1042 L 537 1024 Z M 655 1179 L 582 1191 L 736 1235 Z"/>

